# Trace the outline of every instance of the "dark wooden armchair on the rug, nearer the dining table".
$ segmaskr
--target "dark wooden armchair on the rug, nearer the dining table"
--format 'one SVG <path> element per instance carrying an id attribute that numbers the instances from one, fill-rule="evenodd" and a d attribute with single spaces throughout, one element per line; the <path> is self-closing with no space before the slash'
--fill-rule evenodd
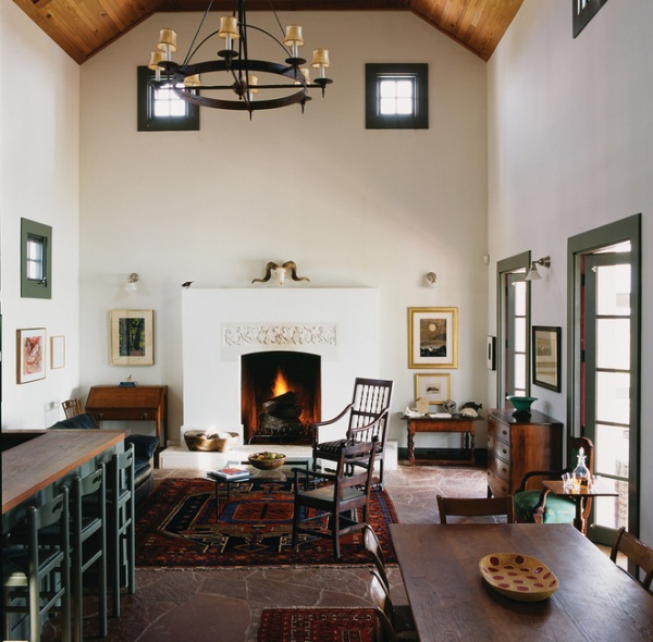
<path id="1" fill-rule="evenodd" d="M 299 533 L 333 540 L 333 554 L 341 557 L 342 535 L 361 530 L 367 523 L 372 485 L 377 440 L 342 444 L 335 473 L 294 468 L 295 513 L 293 516 L 293 547 L 299 545 Z M 361 472 L 356 472 L 360 468 Z M 300 476 L 304 479 L 300 480 Z M 316 484 L 309 484 L 309 479 Z M 310 487 L 315 485 L 316 487 Z M 309 489 L 310 490 L 307 490 Z M 349 511 L 360 511 L 360 519 Z M 329 522 L 325 528 L 324 520 Z"/>

